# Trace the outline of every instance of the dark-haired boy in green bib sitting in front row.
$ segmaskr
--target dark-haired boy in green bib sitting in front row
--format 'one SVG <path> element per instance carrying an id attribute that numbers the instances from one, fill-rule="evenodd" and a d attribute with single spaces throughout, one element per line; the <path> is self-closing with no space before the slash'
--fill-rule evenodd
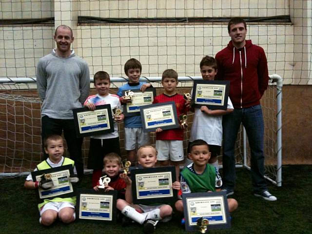
<path id="1" fill-rule="evenodd" d="M 222 185 L 221 177 L 214 166 L 208 164 L 210 159 L 209 145 L 206 141 L 198 139 L 190 143 L 188 157 L 193 163 L 181 172 L 182 196 L 186 193 L 218 192 Z M 216 189 L 218 188 L 218 189 Z M 238 203 L 228 198 L 229 212 L 237 209 Z M 176 210 L 183 213 L 182 200 L 176 201 Z"/>

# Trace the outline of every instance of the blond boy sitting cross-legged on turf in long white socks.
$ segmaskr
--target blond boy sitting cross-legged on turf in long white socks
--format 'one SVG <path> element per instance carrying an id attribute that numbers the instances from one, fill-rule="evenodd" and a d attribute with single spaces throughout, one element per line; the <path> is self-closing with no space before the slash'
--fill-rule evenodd
<path id="1" fill-rule="evenodd" d="M 155 167 L 157 162 L 157 151 L 151 145 L 143 145 L 137 150 L 137 161 L 143 168 Z M 172 208 L 170 205 L 159 204 L 156 206 L 134 205 L 132 204 L 132 181 L 126 174 L 120 174 L 126 184 L 126 200 L 117 199 L 117 209 L 128 218 L 139 224 L 144 224 L 143 231 L 151 234 L 159 220 L 167 222 L 171 219 Z M 172 188 L 180 190 L 180 182 L 175 181 Z"/>

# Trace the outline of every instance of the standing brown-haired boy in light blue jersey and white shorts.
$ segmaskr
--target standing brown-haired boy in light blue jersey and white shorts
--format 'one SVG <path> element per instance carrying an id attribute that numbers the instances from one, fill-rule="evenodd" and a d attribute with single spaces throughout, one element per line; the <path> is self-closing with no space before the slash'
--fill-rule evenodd
<path id="1" fill-rule="evenodd" d="M 140 82 L 139 78 L 142 72 L 142 65 L 137 59 L 129 59 L 125 63 L 125 74 L 129 78 L 129 82 L 119 87 L 117 95 L 120 97 L 121 104 L 131 102 L 122 95 L 122 91 L 140 89 L 144 92 L 151 84 Z M 140 116 L 125 117 L 125 150 L 127 151 L 127 159 L 132 164 L 136 162 L 136 149 L 142 145 L 149 144 L 149 133 L 144 133 L 142 130 L 142 122 Z"/>

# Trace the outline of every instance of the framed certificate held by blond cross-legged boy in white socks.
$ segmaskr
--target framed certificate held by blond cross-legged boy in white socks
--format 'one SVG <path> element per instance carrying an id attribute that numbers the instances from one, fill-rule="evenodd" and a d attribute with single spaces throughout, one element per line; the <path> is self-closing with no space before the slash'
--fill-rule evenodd
<path id="1" fill-rule="evenodd" d="M 177 190 L 172 189 L 176 181 L 175 167 L 133 169 L 131 180 L 134 204 L 176 202 Z"/>

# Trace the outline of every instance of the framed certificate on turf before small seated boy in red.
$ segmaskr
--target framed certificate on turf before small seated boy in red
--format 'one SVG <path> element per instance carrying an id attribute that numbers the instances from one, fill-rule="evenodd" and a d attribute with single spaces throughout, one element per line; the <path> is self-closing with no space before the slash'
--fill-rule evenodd
<path id="1" fill-rule="evenodd" d="M 76 217 L 79 220 L 116 221 L 117 191 L 78 189 Z"/>

